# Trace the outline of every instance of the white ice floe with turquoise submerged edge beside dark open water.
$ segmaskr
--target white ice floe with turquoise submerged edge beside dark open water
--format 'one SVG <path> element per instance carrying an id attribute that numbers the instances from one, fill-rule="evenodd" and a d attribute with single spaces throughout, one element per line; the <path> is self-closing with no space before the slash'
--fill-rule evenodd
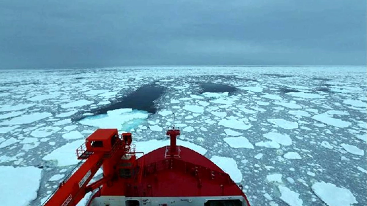
<path id="1" fill-rule="evenodd" d="M 99 114 L 81 119 L 83 125 L 95 126 L 98 128 L 116 128 L 119 132 L 130 132 L 143 124 L 149 113 L 142 110 L 132 110 L 123 108 L 107 111 L 107 114 Z"/>

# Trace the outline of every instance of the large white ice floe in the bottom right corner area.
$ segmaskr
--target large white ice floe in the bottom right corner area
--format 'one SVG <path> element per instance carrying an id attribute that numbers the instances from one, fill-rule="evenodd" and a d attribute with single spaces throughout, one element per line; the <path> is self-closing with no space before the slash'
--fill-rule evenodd
<path id="1" fill-rule="evenodd" d="M 329 206 L 346 206 L 358 203 L 352 192 L 332 183 L 316 182 L 311 188 Z"/>

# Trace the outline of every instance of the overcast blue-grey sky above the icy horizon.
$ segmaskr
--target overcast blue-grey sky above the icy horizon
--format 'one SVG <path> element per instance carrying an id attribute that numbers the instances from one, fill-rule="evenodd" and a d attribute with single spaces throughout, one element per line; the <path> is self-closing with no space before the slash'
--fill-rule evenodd
<path id="1" fill-rule="evenodd" d="M 365 65 L 366 0 L 1 0 L 0 68 Z"/>

